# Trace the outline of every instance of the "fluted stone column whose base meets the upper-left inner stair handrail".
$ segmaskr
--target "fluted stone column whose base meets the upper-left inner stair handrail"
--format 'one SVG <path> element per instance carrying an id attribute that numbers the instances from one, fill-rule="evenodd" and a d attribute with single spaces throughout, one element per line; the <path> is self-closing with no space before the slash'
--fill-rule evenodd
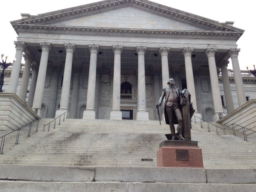
<path id="1" fill-rule="evenodd" d="M 68 101 L 70 92 L 71 72 L 72 72 L 72 61 L 73 53 L 76 49 L 75 44 L 64 44 L 66 49 L 66 61 L 63 75 L 63 83 L 60 97 L 60 108 L 56 111 L 55 117 L 60 116 L 64 112 L 68 111 Z"/>

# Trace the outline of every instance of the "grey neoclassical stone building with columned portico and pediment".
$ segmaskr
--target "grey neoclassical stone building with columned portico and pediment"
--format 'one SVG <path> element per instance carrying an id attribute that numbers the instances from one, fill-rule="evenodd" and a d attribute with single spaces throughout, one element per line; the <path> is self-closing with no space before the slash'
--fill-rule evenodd
<path id="1" fill-rule="evenodd" d="M 22 14 L 11 22 L 16 62 L 5 92 L 28 96 L 43 118 L 69 111 L 70 118 L 156 120 L 155 105 L 172 77 L 190 91 L 196 114 L 215 121 L 246 102 L 236 44 L 244 30 L 233 23 L 148 0 Z"/>

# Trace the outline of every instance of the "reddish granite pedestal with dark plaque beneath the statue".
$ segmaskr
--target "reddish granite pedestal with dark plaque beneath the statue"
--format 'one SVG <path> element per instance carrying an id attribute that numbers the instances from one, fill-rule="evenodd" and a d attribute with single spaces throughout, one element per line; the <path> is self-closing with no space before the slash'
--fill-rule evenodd
<path id="1" fill-rule="evenodd" d="M 165 140 L 156 154 L 158 167 L 204 168 L 202 149 L 196 141 Z"/>

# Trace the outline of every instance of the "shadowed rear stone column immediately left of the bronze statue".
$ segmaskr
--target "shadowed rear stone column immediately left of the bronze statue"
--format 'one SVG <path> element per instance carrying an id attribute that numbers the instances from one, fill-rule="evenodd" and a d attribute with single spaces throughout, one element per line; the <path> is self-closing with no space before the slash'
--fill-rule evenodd
<path id="1" fill-rule="evenodd" d="M 158 114 L 157 114 L 157 110 L 156 110 L 156 104 L 159 103 L 159 98 L 160 98 L 160 94 L 161 94 L 161 90 L 160 86 L 159 86 L 159 76 L 160 76 L 160 70 L 154 70 L 152 71 L 152 77 L 154 80 L 154 120 L 159 120 Z M 162 110 L 159 107 L 159 113 L 161 116 Z"/>

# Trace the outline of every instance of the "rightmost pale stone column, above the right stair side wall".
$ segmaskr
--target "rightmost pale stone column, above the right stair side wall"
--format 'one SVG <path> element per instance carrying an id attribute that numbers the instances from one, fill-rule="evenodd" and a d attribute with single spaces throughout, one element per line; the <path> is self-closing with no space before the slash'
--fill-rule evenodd
<path id="1" fill-rule="evenodd" d="M 232 61 L 238 104 L 239 106 L 241 106 L 242 104 L 246 103 L 246 96 L 244 92 L 244 84 L 243 84 L 242 75 L 241 75 L 239 62 L 238 62 L 239 52 L 240 52 L 240 49 L 230 49 L 228 54 L 230 55 L 230 58 Z"/>

